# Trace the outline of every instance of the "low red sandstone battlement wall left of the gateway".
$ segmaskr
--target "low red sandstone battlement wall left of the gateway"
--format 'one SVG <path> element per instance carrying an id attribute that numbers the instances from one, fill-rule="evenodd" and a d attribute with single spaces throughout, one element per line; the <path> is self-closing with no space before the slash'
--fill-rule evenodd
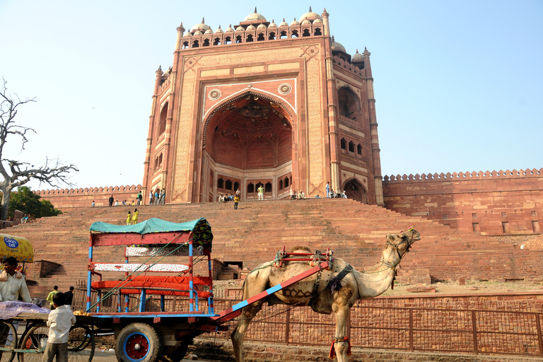
<path id="1" fill-rule="evenodd" d="M 126 186 L 108 186 L 108 187 L 85 187 L 78 189 L 42 189 L 34 193 L 40 195 L 42 199 L 49 200 L 57 209 L 77 206 L 108 206 L 108 199 L 113 196 L 115 201 L 127 200 L 132 204 L 136 200 L 138 192 L 143 187 L 141 185 Z"/>

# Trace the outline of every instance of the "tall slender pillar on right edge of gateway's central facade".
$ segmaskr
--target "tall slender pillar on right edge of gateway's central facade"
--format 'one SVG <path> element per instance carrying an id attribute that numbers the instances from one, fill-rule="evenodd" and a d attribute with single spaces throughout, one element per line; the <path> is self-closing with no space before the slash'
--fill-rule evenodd
<path id="1" fill-rule="evenodd" d="M 330 147 L 330 187 L 339 187 L 339 152 L 338 152 L 338 124 L 337 124 L 337 100 L 336 80 L 334 78 L 334 62 L 332 61 L 332 40 L 328 21 L 329 13 L 326 9 L 322 13 L 322 23 L 325 28 L 325 62 L 326 62 L 326 88 L 328 102 L 328 136 Z M 323 180 L 326 182 L 327 180 Z"/>

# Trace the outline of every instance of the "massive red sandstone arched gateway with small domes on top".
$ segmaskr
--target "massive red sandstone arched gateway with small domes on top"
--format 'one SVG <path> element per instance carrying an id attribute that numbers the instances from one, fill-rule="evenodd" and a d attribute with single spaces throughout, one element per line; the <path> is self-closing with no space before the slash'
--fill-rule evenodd
<path id="1" fill-rule="evenodd" d="M 177 28 L 173 65 L 156 71 L 144 194 L 214 202 L 240 189 L 245 201 L 262 186 L 284 199 L 357 180 L 361 201 L 383 205 L 370 52 L 351 57 L 328 16 Z"/>

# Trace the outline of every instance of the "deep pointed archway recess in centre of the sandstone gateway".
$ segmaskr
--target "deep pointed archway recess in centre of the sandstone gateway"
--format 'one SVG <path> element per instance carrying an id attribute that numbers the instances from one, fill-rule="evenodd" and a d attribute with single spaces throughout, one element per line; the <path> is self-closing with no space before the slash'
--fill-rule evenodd
<path id="1" fill-rule="evenodd" d="M 284 199 L 292 180 L 293 122 L 276 100 L 254 92 L 218 105 L 202 129 L 200 199 L 213 202 L 240 189 L 242 200 Z M 287 183 L 288 185 L 288 183 Z"/>

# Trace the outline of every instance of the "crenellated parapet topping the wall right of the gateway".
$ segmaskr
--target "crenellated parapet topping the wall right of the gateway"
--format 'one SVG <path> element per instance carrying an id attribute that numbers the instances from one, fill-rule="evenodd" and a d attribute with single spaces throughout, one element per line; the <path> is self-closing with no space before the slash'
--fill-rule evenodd
<path id="1" fill-rule="evenodd" d="M 403 181 L 459 181 L 459 180 L 494 180 L 496 178 L 518 178 L 518 177 L 542 177 L 543 168 L 533 168 L 532 170 L 499 170 L 499 171 L 479 171 L 478 173 L 473 171 L 472 173 L 423 173 L 419 175 L 409 174 L 409 175 L 390 175 L 383 177 L 385 182 L 403 182 Z"/>

